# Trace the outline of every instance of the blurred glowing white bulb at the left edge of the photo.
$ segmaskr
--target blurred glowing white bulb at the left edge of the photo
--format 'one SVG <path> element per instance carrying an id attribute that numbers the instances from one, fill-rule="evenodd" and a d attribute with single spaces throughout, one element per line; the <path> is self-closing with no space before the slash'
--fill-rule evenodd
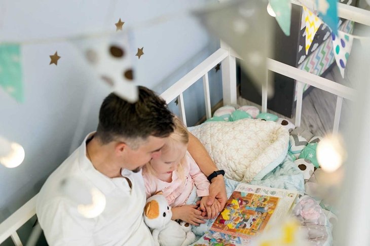
<path id="1" fill-rule="evenodd" d="M 15 168 L 21 165 L 24 160 L 23 147 L 15 142 L 0 137 L 0 163 L 7 168 Z"/>

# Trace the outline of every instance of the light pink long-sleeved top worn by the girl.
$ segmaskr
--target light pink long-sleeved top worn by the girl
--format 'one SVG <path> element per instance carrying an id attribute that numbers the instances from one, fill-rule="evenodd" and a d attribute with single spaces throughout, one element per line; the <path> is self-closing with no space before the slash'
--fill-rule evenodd
<path id="1" fill-rule="evenodd" d="M 172 173 L 172 182 L 165 182 L 150 174 L 145 168 L 142 170 L 144 178 L 146 198 L 154 195 L 157 191 L 162 191 L 171 207 L 184 205 L 194 185 L 197 187 L 198 196 L 209 195 L 210 183 L 207 177 L 199 169 L 197 163 L 187 151 L 186 163 L 183 165 L 185 180 L 178 177 L 177 171 Z"/>

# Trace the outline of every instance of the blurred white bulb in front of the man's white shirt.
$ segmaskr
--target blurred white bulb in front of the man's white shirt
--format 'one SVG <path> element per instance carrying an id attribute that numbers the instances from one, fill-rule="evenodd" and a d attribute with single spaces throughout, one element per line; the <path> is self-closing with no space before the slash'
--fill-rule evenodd
<path id="1" fill-rule="evenodd" d="M 105 209 L 104 194 L 79 178 L 64 179 L 60 184 L 60 191 L 76 204 L 77 211 L 86 218 L 95 218 Z"/>

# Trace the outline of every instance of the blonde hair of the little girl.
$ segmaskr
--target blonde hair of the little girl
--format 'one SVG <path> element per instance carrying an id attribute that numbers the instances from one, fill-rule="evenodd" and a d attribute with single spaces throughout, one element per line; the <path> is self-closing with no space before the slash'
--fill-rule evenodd
<path id="1" fill-rule="evenodd" d="M 167 152 L 171 150 L 178 143 L 182 143 L 186 145 L 188 145 L 189 143 L 189 132 L 186 126 L 184 126 L 182 121 L 176 116 L 173 117 L 173 122 L 175 124 L 174 131 L 168 137 L 169 141 L 163 147 L 162 152 Z M 179 176 L 179 178 L 182 179 L 182 181 L 185 181 L 185 177 L 186 177 L 184 173 L 184 169 L 183 169 L 183 166 L 186 164 L 186 161 L 187 161 L 186 156 L 182 157 L 179 165 L 177 166 L 177 170 L 176 170 L 177 175 Z M 150 161 L 146 163 L 145 169 L 150 174 L 156 176 L 156 171 L 153 169 Z"/>

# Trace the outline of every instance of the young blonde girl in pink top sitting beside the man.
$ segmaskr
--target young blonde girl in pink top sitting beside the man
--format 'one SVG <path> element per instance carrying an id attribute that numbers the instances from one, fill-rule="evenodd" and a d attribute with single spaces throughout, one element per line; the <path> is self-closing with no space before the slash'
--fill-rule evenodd
<path id="1" fill-rule="evenodd" d="M 193 225 L 205 223 L 202 211 L 207 210 L 207 197 L 210 183 L 199 169 L 197 163 L 187 151 L 189 134 L 187 128 L 175 117 L 175 130 L 162 148 L 162 154 L 146 163 L 142 170 L 146 197 L 162 191 L 168 204 L 172 207 L 172 220 L 180 219 Z M 202 197 L 199 206 L 187 205 L 194 185 L 197 196 Z M 217 199 L 210 210 L 219 212 Z M 204 215 L 205 213 L 203 213 Z"/>

